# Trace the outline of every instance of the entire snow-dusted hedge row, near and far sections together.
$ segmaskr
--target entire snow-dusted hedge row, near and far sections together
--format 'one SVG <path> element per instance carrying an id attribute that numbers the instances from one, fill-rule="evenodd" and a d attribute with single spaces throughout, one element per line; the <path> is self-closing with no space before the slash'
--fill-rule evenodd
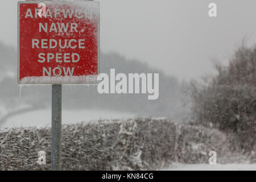
<path id="1" fill-rule="evenodd" d="M 208 163 L 209 151 L 217 152 L 217 163 L 255 162 L 255 153 L 233 152 L 233 146 L 236 140 L 217 129 L 174 125 L 168 119 L 78 123 L 63 126 L 62 169 L 143 170 L 172 162 Z M 37 163 L 39 151 L 46 151 L 46 165 Z M 49 170 L 50 164 L 50 128 L 0 131 L 0 170 Z"/>

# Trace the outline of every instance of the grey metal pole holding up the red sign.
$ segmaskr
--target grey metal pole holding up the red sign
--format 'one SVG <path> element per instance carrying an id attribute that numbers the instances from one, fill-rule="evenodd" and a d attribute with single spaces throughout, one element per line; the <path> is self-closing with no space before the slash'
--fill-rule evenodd
<path id="1" fill-rule="evenodd" d="M 51 170 L 61 170 L 61 85 L 52 85 L 52 154 Z"/>

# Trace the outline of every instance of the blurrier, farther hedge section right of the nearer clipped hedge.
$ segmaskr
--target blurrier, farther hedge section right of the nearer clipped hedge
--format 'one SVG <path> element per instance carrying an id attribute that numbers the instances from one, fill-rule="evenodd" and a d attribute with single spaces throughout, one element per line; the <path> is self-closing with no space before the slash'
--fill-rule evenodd
<path id="1" fill-rule="evenodd" d="M 203 126 L 177 125 L 176 160 L 180 163 L 208 163 L 209 151 L 217 153 L 217 159 L 229 151 L 227 136 Z M 221 159 L 217 162 L 222 162 Z"/>

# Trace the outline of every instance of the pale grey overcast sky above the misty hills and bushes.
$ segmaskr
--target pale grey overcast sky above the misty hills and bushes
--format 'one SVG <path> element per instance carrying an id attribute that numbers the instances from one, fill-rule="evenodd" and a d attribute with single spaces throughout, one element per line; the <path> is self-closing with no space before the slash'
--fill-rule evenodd
<path id="1" fill-rule="evenodd" d="M 0 41 L 16 47 L 16 0 L 1 0 Z M 217 17 L 208 5 L 217 3 Z M 180 79 L 213 73 L 247 38 L 256 43 L 255 0 L 102 0 L 101 51 L 119 52 Z"/>

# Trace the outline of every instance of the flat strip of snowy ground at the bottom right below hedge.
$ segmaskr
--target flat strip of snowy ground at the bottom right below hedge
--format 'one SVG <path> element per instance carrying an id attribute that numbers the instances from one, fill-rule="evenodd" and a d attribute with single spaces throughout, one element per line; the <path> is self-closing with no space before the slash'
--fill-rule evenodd
<path id="1" fill-rule="evenodd" d="M 164 171 L 255 171 L 256 164 L 172 164 Z"/>

